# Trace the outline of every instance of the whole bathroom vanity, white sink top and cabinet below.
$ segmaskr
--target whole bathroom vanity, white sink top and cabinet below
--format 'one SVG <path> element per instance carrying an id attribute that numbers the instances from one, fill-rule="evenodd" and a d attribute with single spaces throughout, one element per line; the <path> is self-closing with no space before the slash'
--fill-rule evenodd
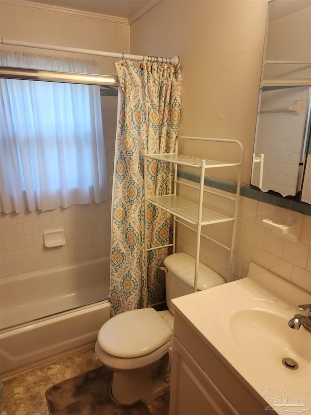
<path id="1" fill-rule="evenodd" d="M 305 301 L 256 264 L 243 280 L 174 299 L 170 415 L 311 414 L 311 332 L 288 326 L 291 303 Z"/>

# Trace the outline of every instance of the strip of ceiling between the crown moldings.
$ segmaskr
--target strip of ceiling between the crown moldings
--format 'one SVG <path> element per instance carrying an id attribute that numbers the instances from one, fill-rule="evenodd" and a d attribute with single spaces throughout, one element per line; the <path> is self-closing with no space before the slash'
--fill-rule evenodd
<path id="1" fill-rule="evenodd" d="M 160 0 L 24 0 L 30 2 L 34 7 L 38 6 L 63 7 L 88 13 L 99 13 L 107 16 L 114 16 L 128 19 L 129 22 L 135 16 L 141 16 L 150 10 Z"/>

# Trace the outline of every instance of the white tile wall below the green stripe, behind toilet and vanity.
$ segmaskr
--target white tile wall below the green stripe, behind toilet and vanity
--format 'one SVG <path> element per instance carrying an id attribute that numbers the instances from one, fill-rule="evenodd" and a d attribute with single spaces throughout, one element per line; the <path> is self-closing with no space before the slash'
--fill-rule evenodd
<path id="1" fill-rule="evenodd" d="M 311 292 L 311 217 L 297 213 L 303 217 L 303 226 L 299 241 L 292 242 L 262 225 L 263 218 L 269 218 L 278 212 L 284 212 L 284 209 L 241 197 L 233 258 L 234 277 L 245 277 L 249 263 L 255 262 L 297 287 Z M 209 228 L 208 235 L 223 243 L 232 229 L 231 225 L 228 230 L 219 225 L 209 225 L 206 228 Z M 194 256 L 196 234 L 178 225 L 176 244 L 177 252 Z M 200 248 L 200 261 L 226 277 L 226 251 L 203 238 Z"/>

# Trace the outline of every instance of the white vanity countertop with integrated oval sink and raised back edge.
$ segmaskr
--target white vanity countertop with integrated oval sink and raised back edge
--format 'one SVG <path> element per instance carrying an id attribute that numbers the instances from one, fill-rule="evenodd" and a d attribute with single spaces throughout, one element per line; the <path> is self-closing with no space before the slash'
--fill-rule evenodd
<path id="1" fill-rule="evenodd" d="M 311 414 L 311 331 L 288 325 L 294 314 L 307 314 L 297 306 L 311 304 L 311 294 L 252 263 L 247 278 L 173 302 L 267 407 L 274 390 L 298 402 L 273 407 L 276 413 Z"/>

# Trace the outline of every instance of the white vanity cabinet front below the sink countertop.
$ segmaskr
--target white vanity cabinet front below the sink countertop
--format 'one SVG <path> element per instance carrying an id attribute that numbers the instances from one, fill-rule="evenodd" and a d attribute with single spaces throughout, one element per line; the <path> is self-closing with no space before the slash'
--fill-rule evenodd
<path id="1" fill-rule="evenodd" d="M 267 406 L 175 307 L 169 414 L 267 415 Z"/>

